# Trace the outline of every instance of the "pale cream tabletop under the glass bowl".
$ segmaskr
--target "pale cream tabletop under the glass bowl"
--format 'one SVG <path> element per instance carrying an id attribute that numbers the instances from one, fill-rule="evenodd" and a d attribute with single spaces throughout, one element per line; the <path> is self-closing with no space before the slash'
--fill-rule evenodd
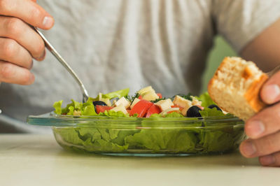
<path id="1" fill-rule="evenodd" d="M 1 134 L 0 185 L 280 185 L 280 168 L 234 152 L 110 157 L 67 152 L 51 135 Z"/>

